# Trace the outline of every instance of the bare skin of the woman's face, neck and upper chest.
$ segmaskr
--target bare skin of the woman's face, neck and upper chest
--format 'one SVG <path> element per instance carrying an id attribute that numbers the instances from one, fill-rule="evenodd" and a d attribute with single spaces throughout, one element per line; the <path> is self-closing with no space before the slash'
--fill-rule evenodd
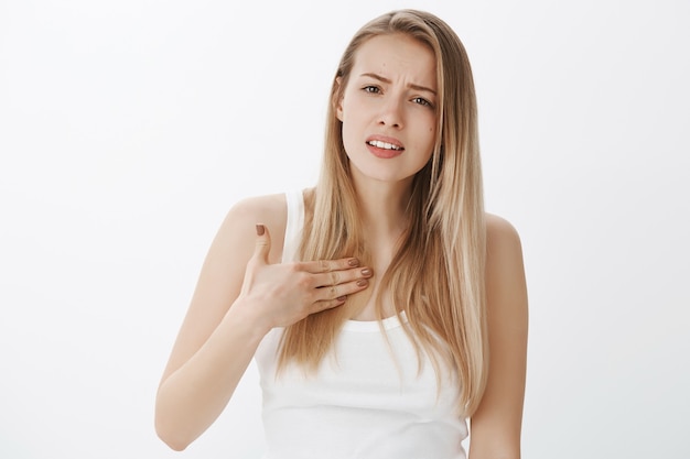
<path id="1" fill-rule="evenodd" d="M 338 80 L 342 84 L 342 80 Z M 423 89 L 422 89 L 423 88 Z M 362 214 L 373 248 L 373 267 L 382 273 L 392 260 L 405 231 L 405 205 L 417 174 L 430 160 L 436 136 L 435 56 L 407 35 L 381 35 L 357 51 L 336 116 L 343 121 L 343 143 L 351 161 L 352 179 L 363 203 Z M 402 147 L 389 159 L 378 157 L 370 140 Z M 378 283 L 354 317 L 375 320 Z M 393 315 L 385 297 L 384 313 Z"/>

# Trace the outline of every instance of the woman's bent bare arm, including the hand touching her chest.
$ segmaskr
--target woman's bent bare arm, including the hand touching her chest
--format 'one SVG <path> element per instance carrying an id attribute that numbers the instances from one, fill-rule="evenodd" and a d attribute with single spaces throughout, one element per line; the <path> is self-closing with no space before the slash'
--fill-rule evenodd
<path id="1" fill-rule="evenodd" d="M 278 251 L 256 223 L 284 227 L 284 218 L 276 217 L 284 217 L 284 201 L 276 203 L 256 198 L 233 208 L 208 251 L 155 403 L 157 433 L 175 450 L 223 412 L 271 328 L 339 306 L 366 288 L 356 281 L 367 276 L 347 259 L 270 264 Z M 332 272 L 338 273 L 335 284 Z"/>

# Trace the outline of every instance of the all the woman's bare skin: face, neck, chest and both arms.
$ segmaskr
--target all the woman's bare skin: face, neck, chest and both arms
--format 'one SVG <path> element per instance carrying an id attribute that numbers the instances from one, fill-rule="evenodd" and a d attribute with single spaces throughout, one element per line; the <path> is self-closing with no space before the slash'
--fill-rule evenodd
<path id="1" fill-rule="evenodd" d="M 343 97 L 334 101 L 362 197 L 367 242 L 375 248 L 373 266 L 353 266 L 352 259 L 280 263 L 287 218 L 282 195 L 247 199 L 230 209 L 202 267 L 158 392 L 155 427 L 171 448 L 184 449 L 217 418 L 271 328 L 376 289 L 371 274 L 384 272 L 393 255 L 407 221 L 403 203 L 411 179 L 429 161 L 436 135 L 434 69 L 431 51 L 413 40 L 374 37 L 358 50 Z M 373 135 L 402 146 L 402 153 L 377 156 L 380 152 L 366 143 Z M 515 459 L 527 353 L 522 256 L 517 232 L 499 217 L 487 216 L 487 244 L 490 367 L 471 419 L 468 452 L 470 459 Z M 374 306 L 354 318 L 374 319 Z"/>

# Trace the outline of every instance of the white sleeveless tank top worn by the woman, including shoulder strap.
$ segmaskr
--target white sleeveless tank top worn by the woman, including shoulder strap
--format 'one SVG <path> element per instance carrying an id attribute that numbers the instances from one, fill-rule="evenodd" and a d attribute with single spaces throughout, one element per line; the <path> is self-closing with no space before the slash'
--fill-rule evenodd
<path id="1" fill-rule="evenodd" d="M 304 222 L 301 193 L 288 194 L 283 261 L 295 260 Z M 393 316 L 348 320 L 315 374 L 289 365 L 276 376 L 282 328 L 255 356 L 263 394 L 266 459 L 465 459 L 465 419 L 454 414 L 459 385 L 436 374 Z"/>

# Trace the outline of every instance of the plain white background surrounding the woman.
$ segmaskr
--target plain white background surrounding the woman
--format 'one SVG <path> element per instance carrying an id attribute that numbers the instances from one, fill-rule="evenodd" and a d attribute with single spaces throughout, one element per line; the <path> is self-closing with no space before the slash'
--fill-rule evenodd
<path id="1" fill-rule="evenodd" d="M 680 0 L 0 1 L 0 457 L 260 457 L 254 367 L 182 453 L 158 381 L 226 211 L 314 183 L 341 53 L 407 7 L 467 47 L 522 238 L 524 457 L 690 457 Z"/>

